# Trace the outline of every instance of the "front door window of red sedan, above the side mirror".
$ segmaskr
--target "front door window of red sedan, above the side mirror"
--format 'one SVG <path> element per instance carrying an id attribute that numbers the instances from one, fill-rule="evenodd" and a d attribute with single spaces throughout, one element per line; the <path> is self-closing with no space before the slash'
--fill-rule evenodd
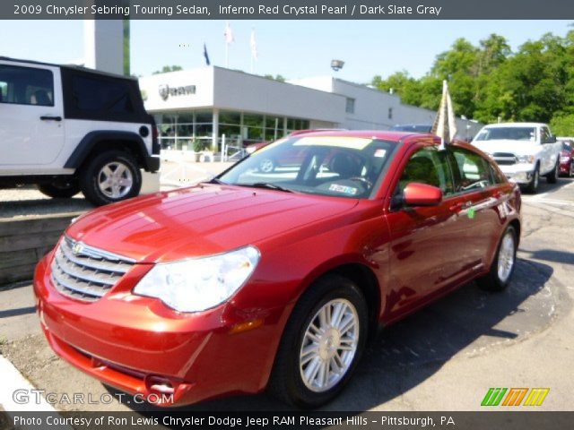
<path id="1" fill-rule="evenodd" d="M 404 187 L 413 182 L 437 186 L 443 195 L 454 193 L 446 152 L 435 147 L 416 151 L 404 168 L 396 193 L 403 193 Z"/>

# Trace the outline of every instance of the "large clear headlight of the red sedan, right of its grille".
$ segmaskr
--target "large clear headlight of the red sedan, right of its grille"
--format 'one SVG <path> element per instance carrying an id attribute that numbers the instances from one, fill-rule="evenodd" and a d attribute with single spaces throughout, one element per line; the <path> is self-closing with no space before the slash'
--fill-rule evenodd
<path id="1" fill-rule="evenodd" d="M 259 262 L 259 250 L 246 246 L 226 254 L 160 263 L 134 288 L 179 312 L 198 312 L 228 300 L 248 280 Z"/>

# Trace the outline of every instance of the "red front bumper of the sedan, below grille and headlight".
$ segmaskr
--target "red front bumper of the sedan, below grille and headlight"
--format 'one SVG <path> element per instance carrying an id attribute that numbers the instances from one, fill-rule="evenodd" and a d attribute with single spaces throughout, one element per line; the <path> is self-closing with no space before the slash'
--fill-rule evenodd
<path id="1" fill-rule="evenodd" d="M 82 302 L 52 286 L 51 258 L 39 262 L 34 277 L 40 323 L 57 355 L 83 372 L 161 406 L 265 389 L 284 307 L 245 313 L 228 303 L 180 314 L 131 294 L 151 268 L 143 264 L 100 300 Z M 237 330 L 253 321 L 257 328 Z"/>

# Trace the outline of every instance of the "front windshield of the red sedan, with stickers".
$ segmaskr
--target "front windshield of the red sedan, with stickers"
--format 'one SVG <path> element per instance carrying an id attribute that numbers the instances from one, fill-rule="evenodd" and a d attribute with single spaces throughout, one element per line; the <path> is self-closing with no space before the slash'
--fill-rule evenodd
<path id="1" fill-rule="evenodd" d="M 271 143 L 217 176 L 214 182 L 368 198 L 395 142 L 345 136 L 298 136 Z"/>

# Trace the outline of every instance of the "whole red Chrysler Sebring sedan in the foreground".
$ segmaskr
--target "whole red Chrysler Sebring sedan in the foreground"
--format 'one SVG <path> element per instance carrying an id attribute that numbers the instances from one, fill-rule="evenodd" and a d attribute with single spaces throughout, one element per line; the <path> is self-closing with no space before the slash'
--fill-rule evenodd
<path id="1" fill-rule="evenodd" d="M 379 324 L 470 280 L 505 288 L 519 212 L 517 185 L 465 143 L 300 133 L 75 220 L 36 270 L 39 320 L 72 365 L 165 406 L 268 389 L 314 408 Z"/>

